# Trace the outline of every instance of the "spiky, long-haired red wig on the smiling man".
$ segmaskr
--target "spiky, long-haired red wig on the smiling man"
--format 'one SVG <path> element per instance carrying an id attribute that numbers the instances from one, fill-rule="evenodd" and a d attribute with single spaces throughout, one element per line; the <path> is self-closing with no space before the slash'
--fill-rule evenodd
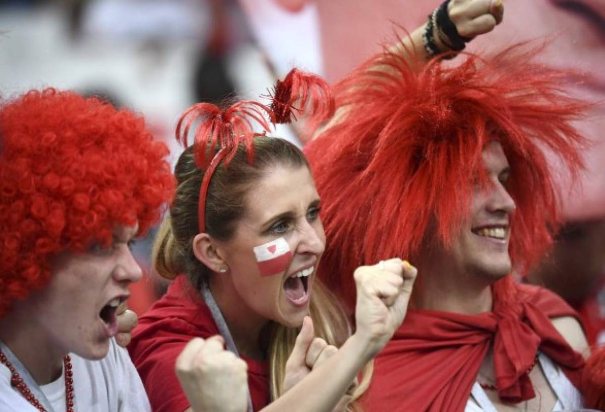
<path id="1" fill-rule="evenodd" d="M 481 153 L 493 139 L 511 166 L 515 268 L 551 244 L 560 198 L 545 149 L 577 175 L 584 140 L 572 122 L 586 105 L 561 91 L 565 72 L 531 63 L 533 53 L 518 46 L 456 67 L 433 60 L 419 72 L 384 53 L 336 86 L 345 120 L 305 152 L 324 205 L 320 273 L 348 304 L 357 266 L 413 258 L 430 224 L 431 241 L 450 245 L 474 184 L 487 184 Z"/>

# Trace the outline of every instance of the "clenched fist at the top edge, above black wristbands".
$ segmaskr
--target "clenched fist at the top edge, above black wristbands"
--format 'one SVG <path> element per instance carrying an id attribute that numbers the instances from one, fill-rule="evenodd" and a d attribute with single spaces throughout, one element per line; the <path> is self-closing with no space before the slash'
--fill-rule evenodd
<path id="1" fill-rule="evenodd" d="M 472 39 L 502 22 L 504 5 L 502 0 L 451 0 L 448 14 L 458 34 Z"/>

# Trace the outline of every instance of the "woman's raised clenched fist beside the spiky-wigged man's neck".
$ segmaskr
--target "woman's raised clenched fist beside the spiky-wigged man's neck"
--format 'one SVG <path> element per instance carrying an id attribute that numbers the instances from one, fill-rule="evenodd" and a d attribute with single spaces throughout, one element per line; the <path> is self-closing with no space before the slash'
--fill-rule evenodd
<path id="1" fill-rule="evenodd" d="M 407 313 L 418 271 L 401 259 L 355 270 L 357 303 L 354 338 L 367 347 L 368 359 L 387 344 Z"/>

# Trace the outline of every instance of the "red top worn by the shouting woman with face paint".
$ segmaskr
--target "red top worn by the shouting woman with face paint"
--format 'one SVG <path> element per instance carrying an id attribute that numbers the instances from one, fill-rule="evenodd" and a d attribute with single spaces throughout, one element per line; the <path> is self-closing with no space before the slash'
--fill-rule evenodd
<path id="1" fill-rule="evenodd" d="M 128 346 L 154 412 L 183 412 L 189 407 L 174 363 L 192 338 L 218 334 L 210 310 L 188 285 L 183 275 L 172 282 L 166 294 L 140 318 Z M 242 359 L 248 365 L 253 409 L 258 411 L 269 404 L 269 368 L 262 362 Z"/>

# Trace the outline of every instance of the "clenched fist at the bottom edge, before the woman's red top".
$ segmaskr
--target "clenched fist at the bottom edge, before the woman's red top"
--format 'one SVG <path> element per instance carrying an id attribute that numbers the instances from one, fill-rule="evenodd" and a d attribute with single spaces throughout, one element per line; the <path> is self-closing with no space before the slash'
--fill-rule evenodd
<path id="1" fill-rule="evenodd" d="M 222 336 L 193 338 L 178 355 L 175 372 L 193 412 L 244 412 L 246 362 L 223 348 Z"/>

